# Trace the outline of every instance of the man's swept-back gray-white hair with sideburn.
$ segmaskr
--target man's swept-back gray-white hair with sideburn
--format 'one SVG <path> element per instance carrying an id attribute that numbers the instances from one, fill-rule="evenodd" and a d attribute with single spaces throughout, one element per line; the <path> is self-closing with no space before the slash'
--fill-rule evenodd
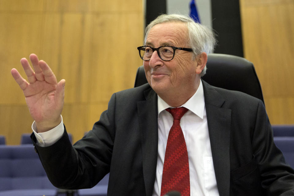
<path id="1" fill-rule="evenodd" d="M 147 36 L 150 29 L 157 24 L 165 22 L 183 22 L 187 24 L 189 42 L 188 44 L 193 49 L 192 58 L 195 59 L 202 52 L 211 53 L 213 52 L 214 46 L 216 45 L 215 34 L 212 29 L 196 23 L 192 18 L 180 14 L 162 14 L 153 20 L 145 29 L 145 40 L 146 43 Z M 201 76 L 206 73 L 206 65 L 201 72 Z"/>

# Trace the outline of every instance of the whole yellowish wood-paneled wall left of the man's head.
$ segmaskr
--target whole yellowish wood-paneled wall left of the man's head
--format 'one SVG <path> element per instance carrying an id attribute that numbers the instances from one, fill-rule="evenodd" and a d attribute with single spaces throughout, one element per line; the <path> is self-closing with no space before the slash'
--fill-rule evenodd
<path id="1" fill-rule="evenodd" d="M 17 2 L 17 3 L 16 3 Z M 142 1 L 0 1 L 0 134 L 19 144 L 32 118 L 10 74 L 31 53 L 45 60 L 57 80 L 66 80 L 62 111 L 74 142 L 92 129 L 114 92 L 132 88 L 142 64 Z"/>

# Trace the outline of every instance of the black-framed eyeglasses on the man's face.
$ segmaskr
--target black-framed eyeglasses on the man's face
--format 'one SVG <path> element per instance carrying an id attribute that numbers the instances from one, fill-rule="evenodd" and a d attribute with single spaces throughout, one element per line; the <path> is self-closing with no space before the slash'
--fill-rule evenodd
<path id="1" fill-rule="evenodd" d="M 140 46 L 138 47 L 139 55 L 144 61 L 149 61 L 153 52 L 157 51 L 159 58 L 164 61 L 170 61 L 175 56 L 175 50 L 184 50 L 192 52 L 192 48 L 181 48 L 174 46 L 160 46 L 158 48 L 153 48 L 151 46 Z"/>

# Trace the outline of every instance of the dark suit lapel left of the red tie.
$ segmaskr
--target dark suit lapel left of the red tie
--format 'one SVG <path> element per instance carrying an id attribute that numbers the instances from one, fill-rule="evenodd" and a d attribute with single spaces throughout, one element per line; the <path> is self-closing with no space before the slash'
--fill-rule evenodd
<path id="1" fill-rule="evenodd" d="M 141 132 L 143 176 L 146 195 L 154 189 L 158 151 L 157 95 L 150 88 L 145 92 L 144 101 L 138 101 L 138 117 Z"/>

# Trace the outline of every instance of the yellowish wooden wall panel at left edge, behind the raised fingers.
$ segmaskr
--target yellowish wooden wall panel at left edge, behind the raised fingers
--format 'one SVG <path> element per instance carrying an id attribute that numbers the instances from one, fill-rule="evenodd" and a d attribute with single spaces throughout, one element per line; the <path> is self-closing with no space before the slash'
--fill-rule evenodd
<path id="1" fill-rule="evenodd" d="M 0 59 L 1 59 L 1 92 L 0 104 L 25 103 L 23 93 L 16 89 L 17 84 L 9 74 L 13 67 L 20 65 L 22 57 L 28 57 L 28 51 L 41 51 L 42 15 L 28 13 L 2 13 L 0 11 Z M 24 71 L 20 70 L 22 74 Z M 5 85 L 3 85 L 5 84 Z"/>

